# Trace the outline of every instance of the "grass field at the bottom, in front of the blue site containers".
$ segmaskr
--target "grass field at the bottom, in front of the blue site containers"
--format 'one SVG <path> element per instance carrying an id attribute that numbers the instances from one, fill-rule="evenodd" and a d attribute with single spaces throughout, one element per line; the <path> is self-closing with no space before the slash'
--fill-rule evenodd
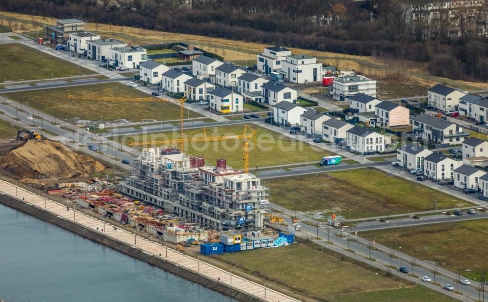
<path id="1" fill-rule="evenodd" d="M 327 249 L 318 250 L 318 246 L 313 243 L 296 243 L 285 247 L 213 257 L 224 260 L 248 274 L 274 281 L 292 290 L 296 288 L 297 293 L 320 301 L 349 299 L 347 301 L 389 302 L 394 297 L 401 297 L 405 290 L 419 287 L 407 281 L 388 278 L 385 272 L 359 262 L 352 262 L 352 259 L 341 259 L 339 254 Z M 357 300 L 364 292 L 371 295 L 371 300 Z M 434 292 L 429 294 L 439 299 L 443 296 Z"/>

